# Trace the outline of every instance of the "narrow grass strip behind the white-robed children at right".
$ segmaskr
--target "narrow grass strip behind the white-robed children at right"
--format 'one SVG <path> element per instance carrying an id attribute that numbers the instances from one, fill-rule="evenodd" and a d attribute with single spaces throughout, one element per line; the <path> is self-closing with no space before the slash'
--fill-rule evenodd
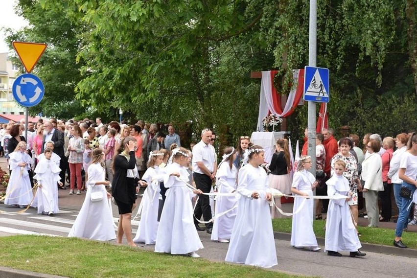
<path id="1" fill-rule="evenodd" d="M 282 218 L 272 220 L 273 229 L 275 232 L 288 232 L 291 233 L 291 218 Z M 317 237 L 325 236 L 324 225 L 325 221 L 323 220 L 314 220 L 314 232 Z M 359 232 L 362 233 L 360 237 L 361 242 L 379 244 L 379 245 L 388 245 L 393 246 L 394 233 L 392 229 L 383 229 L 383 228 L 369 228 L 369 227 L 359 227 Z M 408 248 L 417 249 L 417 233 L 416 232 L 403 232 L 402 233 L 403 242 L 408 246 Z"/>

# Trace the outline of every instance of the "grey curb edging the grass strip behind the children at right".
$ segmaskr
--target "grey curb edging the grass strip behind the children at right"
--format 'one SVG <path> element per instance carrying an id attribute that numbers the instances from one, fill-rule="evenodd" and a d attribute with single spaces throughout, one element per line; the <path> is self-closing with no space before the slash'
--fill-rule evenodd
<path id="1" fill-rule="evenodd" d="M 286 232 L 274 232 L 274 238 L 278 240 L 291 240 L 291 233 Z M 317 237 L 317 243 L 319 246 L 324 246 L 324 238 L 323 237 Z M 373 253 L 380 253 L 385 255 L 395 255 L 395 256 L 402 256 L 402 257 L 410 257 L 410 258 L 417 258 L 417 250 L 406 248 L 401 249 L 394 246 L 387 246 L 387 245 L 376 245 L 376 244 L 370 244 L 370 243 L 363 243 L 361 251 L 369 251 Z"/>

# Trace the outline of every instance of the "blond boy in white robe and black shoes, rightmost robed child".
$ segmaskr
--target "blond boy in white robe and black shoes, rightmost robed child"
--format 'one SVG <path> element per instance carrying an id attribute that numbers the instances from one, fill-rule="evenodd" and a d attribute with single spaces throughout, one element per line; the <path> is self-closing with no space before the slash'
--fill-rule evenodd
<path id="1" fill-rule="evenodd" d="M 343 176 L 345 168 L 345 162 L 336 161 L 334 163 L 334 174 L 326 182 L 328 196 L 346 196 L 346 199 L 330 199 L 327 210 L 324 251 L 327 251 L 329 256 L 342 256 L 338 251 L 349 251 L 349 256 L 361 257 L 366 254 L 359 251 L 362 245 L 347 203 L 352 196 L 352 192 L 349 182 Z"/>

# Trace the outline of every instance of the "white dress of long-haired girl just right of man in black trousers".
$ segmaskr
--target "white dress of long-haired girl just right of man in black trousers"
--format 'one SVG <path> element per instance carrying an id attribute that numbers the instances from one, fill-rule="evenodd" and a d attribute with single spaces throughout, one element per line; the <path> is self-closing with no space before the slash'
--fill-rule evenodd
<path id="1" fill-rule="evenodd" d="M 237 169 L 232 164 L 230 169 L 229 162 L 222 162 L 217 170 L 217 192 L 232 193 L 236 190 Z M 217 196 L 215 215 L 232 209 L 237 203 L 236 196 Z M 211 240 L 219 238 L 230 239 L 233 230 L 234 219 L 236 218 L 237 208 L 232 209 L 228 213 L 216 218 L 213 223 L 211 232 Z"/>

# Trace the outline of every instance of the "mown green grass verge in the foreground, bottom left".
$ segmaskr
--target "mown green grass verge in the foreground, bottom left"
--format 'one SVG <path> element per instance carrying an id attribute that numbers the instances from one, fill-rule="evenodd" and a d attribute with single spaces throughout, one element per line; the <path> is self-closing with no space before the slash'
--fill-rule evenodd
<path id="1" fill-rule="evenodd" d="M 1 266 L 71 278 L 300 277 L 78 238 L 16 235 L 0 237 L 0 244 Z"/>

